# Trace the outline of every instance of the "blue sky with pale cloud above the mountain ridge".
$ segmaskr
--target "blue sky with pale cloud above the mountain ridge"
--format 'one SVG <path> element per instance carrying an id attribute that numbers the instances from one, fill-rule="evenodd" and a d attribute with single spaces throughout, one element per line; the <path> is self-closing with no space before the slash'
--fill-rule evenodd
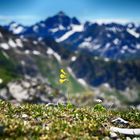
<path id="1" fill-rule="evenodd" d="M 64 11 L 80 21 L 139 22 L 140 0 L 0 0 L 0 24 L 33 24 Z"/>

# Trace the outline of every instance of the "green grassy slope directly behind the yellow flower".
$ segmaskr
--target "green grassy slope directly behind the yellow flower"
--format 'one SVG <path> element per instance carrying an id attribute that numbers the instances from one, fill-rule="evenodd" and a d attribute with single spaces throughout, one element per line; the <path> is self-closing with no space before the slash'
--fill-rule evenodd
<path id="1" fill-rule="evenodd" d="M 35 59 L 41 74 L 46 77 L 54 87 L 61 87 L 64 92 L 69 90 L 71 94 L 85 92 L 85 88 L 67 71 L 67 65 L 65 66 L 65 64 L 63 64 L 63 68 L 69 75 L 70 84 L 63 84 L 63 86 L 60 86 L 59 74 L 62 67 L 58 61 L 53 56 L 51 58 L 46 58 L 46 56 L 36 56 Z"/>

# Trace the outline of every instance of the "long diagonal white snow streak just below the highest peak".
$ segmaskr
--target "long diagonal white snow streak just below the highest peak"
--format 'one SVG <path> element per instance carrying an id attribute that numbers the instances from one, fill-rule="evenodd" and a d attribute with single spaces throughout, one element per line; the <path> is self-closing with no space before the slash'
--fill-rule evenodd
<path id="1" fill-rule="evenodd" d="M 67 33 L 65 33 L 63 36 L 61 36 L 60 38 L 56 39 L 56 42 L 62 42 L 66 39 L 68 39 L 71 35 L 73 35 L 76 32 L 82 32 L 84 30 L 83 25 L 71 25 L 72 29 L 70 31 L 68 31 Z"/>

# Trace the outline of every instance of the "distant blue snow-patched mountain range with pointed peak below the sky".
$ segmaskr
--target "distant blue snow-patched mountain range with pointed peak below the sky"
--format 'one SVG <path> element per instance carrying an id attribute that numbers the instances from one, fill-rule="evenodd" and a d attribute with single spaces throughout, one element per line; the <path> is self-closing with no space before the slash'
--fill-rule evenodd
<path id="1" fill-rule="evenodd" d="M 51 38 L 59 44 L 69 45 L 71 50 L 84 50 L 110 59 L 135 57 L 140 53 L 140 26 L 134 23 L 80 23 L 77 18 L 59 12 L 30 27 L 12 23 L 9 30 L 38 40 Z"/>

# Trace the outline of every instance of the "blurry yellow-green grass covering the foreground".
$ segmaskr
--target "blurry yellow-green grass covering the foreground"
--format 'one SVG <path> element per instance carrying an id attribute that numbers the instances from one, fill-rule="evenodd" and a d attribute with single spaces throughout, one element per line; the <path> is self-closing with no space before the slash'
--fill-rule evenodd
<path id="1" fill-rule="evenodd" d="M 140 127 L 137 110 L 106 110 L 98 104 L 93 107 L 75 107 L 22 104 L 15 106 L 0 101 L 0 139 L 33 140 L 91 140 L 110 138 L 111 120 L 122 117 L 129 121 L 125 127 Z M 119 135 L 121 139 L 124 136 Z"/>

